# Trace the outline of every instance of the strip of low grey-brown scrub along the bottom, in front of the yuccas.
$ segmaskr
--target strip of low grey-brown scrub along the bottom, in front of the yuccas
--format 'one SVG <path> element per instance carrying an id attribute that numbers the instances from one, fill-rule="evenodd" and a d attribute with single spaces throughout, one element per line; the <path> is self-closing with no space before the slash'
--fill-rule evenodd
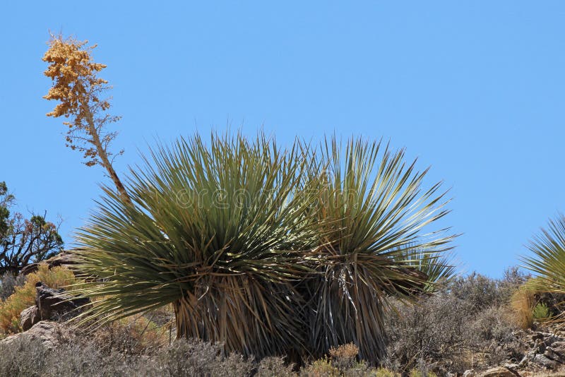
<path id="1" fill-rule="evenodd" d="M 97 342 L 83 336 L 59 339 L 47 349 L 38 339 L 21 337 L 0 344 L 0 376 L 27 377 L 399 377 L 388 369 L 371 369 L 352 360 L 355 346 L 333 350 L 333 356 L 311 361 L 299 371 L 281 357 L 259 362 L 240 354 L 222 357 L 219 345 L 200 340 L 178 340 L 153 355 L 124 354 L 121 347 L 101 350 Z M 338 361 L 341 360 L 341 361 Z M 342 363 L 346 360 L 346 363 Z M 336 361 L 341 366 L 337 366 Z M 422 374 L 426 376 L 426 374 Z M 431 376 L 431 375 L 428 375 Z"/>

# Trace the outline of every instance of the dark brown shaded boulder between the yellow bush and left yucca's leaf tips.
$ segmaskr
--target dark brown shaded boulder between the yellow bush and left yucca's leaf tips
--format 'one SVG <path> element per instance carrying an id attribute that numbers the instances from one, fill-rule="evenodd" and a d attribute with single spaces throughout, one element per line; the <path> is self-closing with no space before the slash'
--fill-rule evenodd
<path id="1" fill-rule="evenodd" d="M 76 316 L 81 306 L 90 303 L 88 297 L 76 297 L 66 293 L 64 289 L 52 289 L 42 282 L 35 284 L 37 296 L 35 306 L 39 309 L 42 320 L 57 316 Z"/>

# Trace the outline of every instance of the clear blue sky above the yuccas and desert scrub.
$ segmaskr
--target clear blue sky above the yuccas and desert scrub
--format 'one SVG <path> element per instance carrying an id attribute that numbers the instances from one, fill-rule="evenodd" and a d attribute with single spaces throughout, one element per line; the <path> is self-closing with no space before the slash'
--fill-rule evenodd
<path id="1" fill-rule="evenodd" d="M 564 1 L 5 1 L 0 181 L 83 224 L 105 181 L 42 100 L 48 30 L 88 39 L 114 85 L 119 172 L 155 137 L 263 128 L 390 138 L 451 187 L 465 271 L 501 276 L 565 211 Z"/>

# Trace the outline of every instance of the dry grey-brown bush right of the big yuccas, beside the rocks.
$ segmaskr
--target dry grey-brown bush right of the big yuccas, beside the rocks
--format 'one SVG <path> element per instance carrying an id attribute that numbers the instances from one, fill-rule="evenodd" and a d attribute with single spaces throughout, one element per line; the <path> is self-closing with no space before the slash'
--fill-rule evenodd
<path id="1" fill-rule="evenodd" d="M 522 290 L 516 291 L 516 283 L 506 279 L 471 274 L 415 305 L 396 302 L 387 316 L 387 364 L 402 372 L 416 368 L 428 373 L 427 366 L 435 364 L 462 373 L 518 359 L 524 349 L 514 335 L 516 313 L 506 304 L 511 301 L 506 295 Z M 531 308 L 528 313 L 531 316 Z"/>

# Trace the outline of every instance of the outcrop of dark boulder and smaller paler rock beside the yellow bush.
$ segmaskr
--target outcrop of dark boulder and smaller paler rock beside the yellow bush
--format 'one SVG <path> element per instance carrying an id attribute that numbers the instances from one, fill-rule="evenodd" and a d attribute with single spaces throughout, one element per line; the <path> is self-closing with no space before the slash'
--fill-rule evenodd
<path id="1" fill-rule="evenodd" d="M 24 331 L 40 321 L 76 316 L 83 306 L 90 303 L 87 297 L 71 296 L 62 288 L 52 289 L 42 282 L 37 282 L 35 289 L 35 305 L 20 314 L 20 325 Z"/>

